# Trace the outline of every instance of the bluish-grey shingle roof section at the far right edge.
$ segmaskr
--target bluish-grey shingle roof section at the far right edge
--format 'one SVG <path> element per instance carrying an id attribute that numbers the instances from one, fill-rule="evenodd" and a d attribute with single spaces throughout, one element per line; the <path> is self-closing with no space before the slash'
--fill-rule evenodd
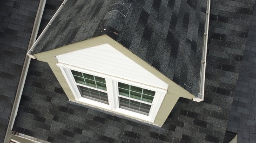
<path id="1" fill-rule="evenodd" d="M 256 5 L 254 5 L 254 10 Z M 228 131 L 237 133 L 238 143 L 256 143 L 256 13 L 250 23 L 243 62 L 229 115 Z"/>

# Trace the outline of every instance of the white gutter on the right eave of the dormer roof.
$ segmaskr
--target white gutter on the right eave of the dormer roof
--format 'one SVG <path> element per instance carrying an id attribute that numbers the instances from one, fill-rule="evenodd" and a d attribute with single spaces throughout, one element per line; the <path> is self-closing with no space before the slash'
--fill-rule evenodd
<path id="1" fill-rule="evenodd" d="M 203 37 L 203 49 L 202 49 L 202 61 L 201 61 L 201 70 L 200 70 L 199 93 L 198 93 L 198 97 L 193 98 L 193 101 L 196 101 L 196 102 L 203 101 L 203 97 L 204 97 L 204 83 L 205 83 L 207 44 L 208 44 L 210 3 L 211 3 L 211 0 L 207 0 L 206 18 L 205 18 L 205 25 L 204 25 L 204 37 Z"/>

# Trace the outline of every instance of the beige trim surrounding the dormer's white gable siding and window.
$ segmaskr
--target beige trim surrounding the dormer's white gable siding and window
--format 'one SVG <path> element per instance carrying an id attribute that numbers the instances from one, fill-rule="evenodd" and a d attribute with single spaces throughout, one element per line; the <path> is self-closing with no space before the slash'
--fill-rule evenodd
<path id="1" fill-rule="evenodd" d="M 61 72 L 61 69 L 56 65 L 56 63 L 58 62 L 56 59 L 56 56 L 65 54 L 68 52 L 72 52 L 75 50 L 81 50 L 84 48 L 97 46 L 100 44 L 111 45 L 116 50 L 118 50 L 119 52 L 121 52 L 122 54 L 124 54 L 125 56 L 127 56 L 128 58 L 130 58 L 131 60 L 136 62 L 137 64 L 139 64 L 141 67 L 148 70 L 151 74 L 155 75 L 157 78 L 159 78 L 160 80 L 162 80 L 168 84 L 167 94 L 165 95 L 162 105 L 155 117 L 154 123 L 150 123 L 147 121 L 142 121 L 142 122 L 154 124 L 157 126 L 162 126 L 162 124 L 164 124 L 168 115 L 172 111 L 173 107 L 175 106 L 179 97 L 183 97 L 183 98 L 187 98 L 187 99 L 194 98 L 194 96 L 191 93 L 189 93 L 188 91 L 186 91 L 185 89 L 183 89 L 182 87 L 177 85 L 174 81 L 171 81 L 170 79 L 168 79 L 168 77 L 166 77 L 165 75 L 160 73 L 160 71 L 158 71 L 157 69 L 155 69 L 154 67 L 149 65 L 147 62 L 145 62 L 140 57 L 133 54 L 131 51 L 126 49 L 123 45 L 119 44 L 118 42 L 116 42 L 111 37 L 108 37 L 107 35 L 94 37 L 94 38 L 84 40 L 84 41 L 81 41 L 78 43 L 69 44 L 67 46 L 63 46 L 61 48 L 57 48 L 54 50 L 41 52 L 41 53 L 35 54 L 34 56 L 37 58 L 37 60 L 47 62 L 49 64 L 49 66 L 53 70 L 54 75 L 56 76 L 57 80 L 60 82 L 61 87 L 63 88 L 64 92 L 67 94 L 68 99 L 74 102 L 75 101 L 74 95 L 73 95 L 70 87 L 68 86 L 67 81 L 65 80 L 64 75 Z M 77 102 L 77 101 L 75 101 L 75 102 Z M 80 104 L 84 104 L 84 103 L 80 103 Z M 84 104 L 84 105 L 87 105 L 87 104 Z M 87 105 L 87 106 L 92 106 L 92 105 Z M 95 107 L 95 108 L 100 109 L 99 107 Z M 108 111 L 106 109 L 101 109 L 101 110 Z M 108 111 L 108 112 L 113 112 L 113 111 Z M 113 113 L 115 113 L 115 112 L 113 112 Z M 116 114 L 120 114 L 120 113 L 116 113 Z M 120 115 L 122 115 L 122 114 L 120 114 Z M 122 116 L 128 117 L 127 115 L 122 115 Z M 128 118 L 132 118 L 132 117 L 128 117 Z M 134 119 L 141 121 L 141 119 L 137 119 L 137 118 L 134 118 Z"/>

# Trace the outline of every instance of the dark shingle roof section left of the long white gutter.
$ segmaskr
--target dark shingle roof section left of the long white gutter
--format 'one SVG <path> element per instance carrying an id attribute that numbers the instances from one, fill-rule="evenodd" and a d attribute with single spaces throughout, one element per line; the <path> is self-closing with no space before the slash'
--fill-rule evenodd
<path id="1" fill-rule="evenodd" d="M 0 0 L 0 143 L 27 53 L 39 0 Z"/>

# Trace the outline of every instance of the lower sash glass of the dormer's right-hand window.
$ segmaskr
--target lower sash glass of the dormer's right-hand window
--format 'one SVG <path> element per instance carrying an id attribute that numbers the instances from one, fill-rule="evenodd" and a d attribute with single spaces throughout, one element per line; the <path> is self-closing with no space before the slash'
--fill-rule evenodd
<path id="1" fill-rule="evenodd" d="M 119 97 L 119 107 L 132 112 L 148 115 L 151 105 Z"/>

